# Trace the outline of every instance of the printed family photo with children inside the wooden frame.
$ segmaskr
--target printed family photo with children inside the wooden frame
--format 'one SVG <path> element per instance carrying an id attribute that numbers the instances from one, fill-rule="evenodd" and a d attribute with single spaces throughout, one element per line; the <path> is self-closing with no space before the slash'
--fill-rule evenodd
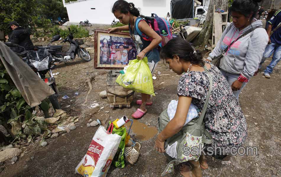
<path id="1" fill-rule="evenodd" d="M 130 37 L 100 36 L 100 65 L 127 65 L 137 58 L 135 45 Z"/>

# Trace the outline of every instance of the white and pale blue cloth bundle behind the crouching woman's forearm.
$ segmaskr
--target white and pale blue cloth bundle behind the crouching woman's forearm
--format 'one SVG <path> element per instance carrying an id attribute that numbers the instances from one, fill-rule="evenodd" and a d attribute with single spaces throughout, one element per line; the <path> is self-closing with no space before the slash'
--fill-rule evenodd
<path id="1" fill-rule="evenodd" d="M 175 117 L 176 110 L 177 110 L 177 103 L 178 103 L 177 100 L 172 100 L 168 105 L 167 113 L 170 118 L 170 121 Z M 197 109 L 198 109 L 197 106 L 195 106 L 192 103 L 190 104 L 184 125 L 186 125 L 188 122 L 190 122 L 192 119 L 198 116 Z"/>

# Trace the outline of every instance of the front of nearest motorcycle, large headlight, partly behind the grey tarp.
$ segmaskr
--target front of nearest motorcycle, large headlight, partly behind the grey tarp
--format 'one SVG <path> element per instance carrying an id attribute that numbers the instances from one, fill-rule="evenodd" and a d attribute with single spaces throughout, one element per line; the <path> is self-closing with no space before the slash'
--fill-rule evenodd
<path id="1" fill-rule="evenodd" d="M 13 42 L 5 42 L 8 47 L 21 47 Z M 21 47 L 24 48 L 24 47 Z M 59 89 L 56 86 L 56 81 L 53 76 L 51 65 L 54 65 L 52 55 L 47 49 L 40 49 L 38 51 L 25 50 L 22 53 L 17 53 L 22 60 L 28 64 L 28 66 L 40 77 L 46 84 L 48 84 L 55 92 L 55 94 L 49 96 L 49 100 L 53 105 L 53 108 L 60 109 L 57 96 L 59 95 Z M 49 76 L 46 74 L 49 73 Z M 45 114 L 45 113 L 44 113 Z"/>

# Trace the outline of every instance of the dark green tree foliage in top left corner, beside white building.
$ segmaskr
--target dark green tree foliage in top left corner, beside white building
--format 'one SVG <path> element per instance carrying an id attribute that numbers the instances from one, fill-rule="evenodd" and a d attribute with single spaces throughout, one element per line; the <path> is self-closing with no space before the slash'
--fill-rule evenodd
<path id="1" fill-rule="evenodd" d="M 48 31 L 51 21 L 58 17 L 68 18 L 62 0 L 0 0 L 0 31 L 10 32 L 9 22 L 16 21 L 20 26 L 35 32 L 36 27 Z"/>

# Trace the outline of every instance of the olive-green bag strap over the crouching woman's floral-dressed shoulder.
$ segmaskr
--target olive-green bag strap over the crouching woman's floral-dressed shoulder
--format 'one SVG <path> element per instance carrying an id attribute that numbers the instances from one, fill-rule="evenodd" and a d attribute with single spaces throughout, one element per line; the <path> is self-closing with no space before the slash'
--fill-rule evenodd
<path id="1" fill-rule="evenodd" d="M 203 119 L 205 117 L 205 113 L 206 113 L 206 110 L 207 110 L 207 107 L 208 107 L 208 103 L 209 103 L 209 99 L 210 99 L 210 95 L 211 95 L 211 91 L 213 89 L 213 79 L 212 79 L 212 76 L 211 76 L 211 73 L 209 72 L 209 70 L 206 68 L 206 66 L 204 66 L 204 70 L 207 72 L 208 76 L 209 76 L 209 82 L 210 82 L 210 86 L 209 86 L 209 91 L 208 91 L 208 94 L 206 96 L 206 100 L 205 100 L 205 103 L 204 103 L 204 107 L 203 107 L 203 110 L 202 110 L 202 113 L 199 117 L 199 120 L 197 122 L 197 125 L 198 126 L 201 126 L 202 125 L 202 122 L 203 122 Z M 202 136 L 202 141 L 206 144 L 211 144 L 212 143 L 212 136 L 210 135 L 210 133 L 205 129 L 205 125 L 203 126 L 204 128 L 204 132 L 203 132 L 203 136 Z M 208 137 L 208 139 L 206 137 L 204 137 L 204 135 L 206 137 Z"/>

